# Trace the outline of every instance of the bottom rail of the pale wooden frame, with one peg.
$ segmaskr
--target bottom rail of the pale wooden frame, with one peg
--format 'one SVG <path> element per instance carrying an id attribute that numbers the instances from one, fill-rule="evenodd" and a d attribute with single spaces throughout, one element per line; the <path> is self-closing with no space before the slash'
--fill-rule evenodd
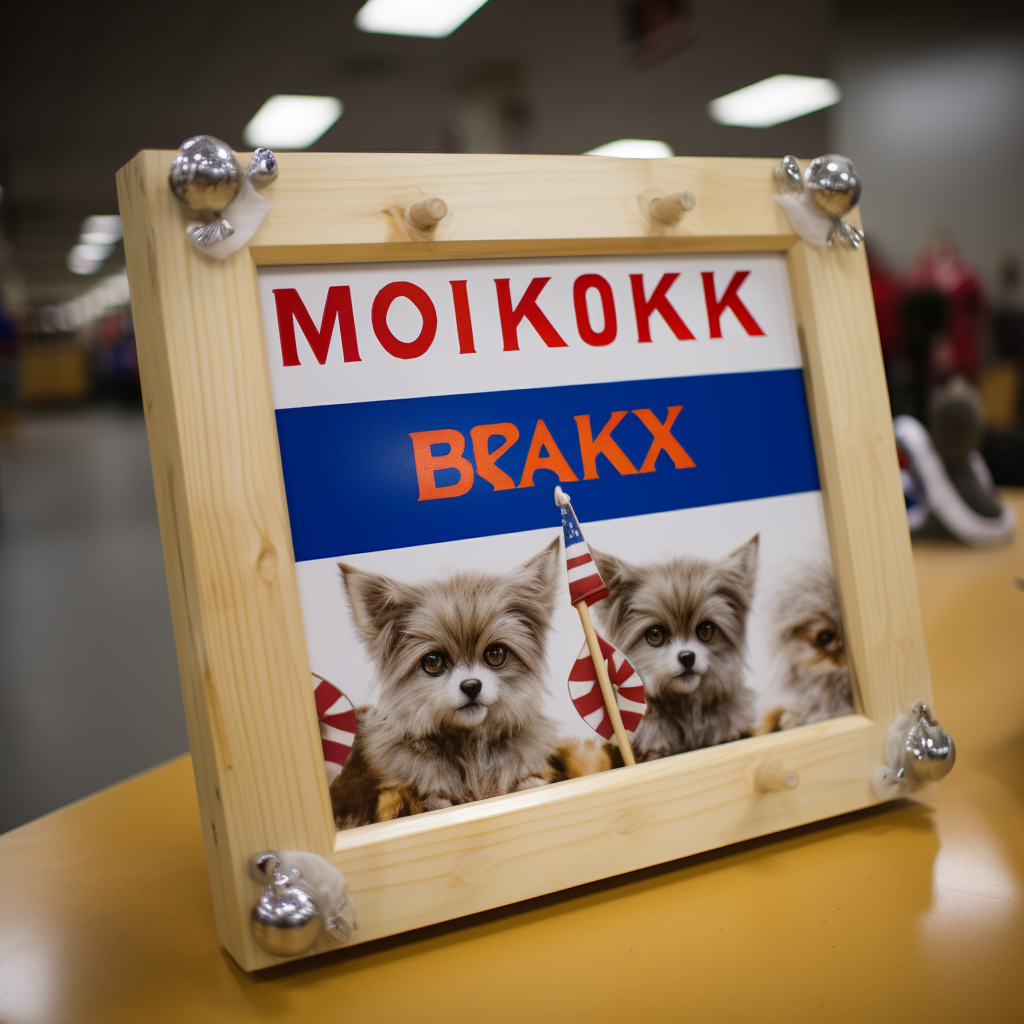
<path id="1" fill-rule="evenodd" d="M 869 806 L 884 734 L 851 715 L 339 833 L 352 944 Z M 770 760 L 800 784 L 758 791 Z"/>

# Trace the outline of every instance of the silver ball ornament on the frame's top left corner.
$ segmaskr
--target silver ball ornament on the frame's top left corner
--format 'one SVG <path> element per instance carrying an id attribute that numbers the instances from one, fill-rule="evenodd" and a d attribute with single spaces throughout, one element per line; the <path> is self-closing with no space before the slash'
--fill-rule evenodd
<path id="1" fill-rule="evenodd" d="M 270 209 L 257 191 L 278 177 L 278 158 L 257 148 L 243 172 L 231 147 L 212 135 L 195 135 L 178 146 L 171 162 L 171 190 L 202 220 L 185 227 L 193 245 L 225 259 L 256 233 Z"/>

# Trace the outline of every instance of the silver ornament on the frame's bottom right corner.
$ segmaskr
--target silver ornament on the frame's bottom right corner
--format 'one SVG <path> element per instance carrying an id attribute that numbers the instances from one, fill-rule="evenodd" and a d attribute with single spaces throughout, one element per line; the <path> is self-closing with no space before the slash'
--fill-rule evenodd
<path id="1" fill-rule="evenodd" d="M 956 745 L 932 709 L 919 700 L 889 726 L 886 761 L 871 777 L 879 800 L 902 797 L 945 778 L 956 763 Z"/>

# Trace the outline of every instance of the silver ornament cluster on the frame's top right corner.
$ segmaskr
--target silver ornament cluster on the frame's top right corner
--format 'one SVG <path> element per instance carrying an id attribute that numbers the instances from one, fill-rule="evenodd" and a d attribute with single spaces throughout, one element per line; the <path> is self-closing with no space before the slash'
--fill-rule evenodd
<path id="1" fill-rule="evenodd" d="M 852 249 L 860 247 L 863 232 L 843 219 L 861 193 L 860 175 L 849 157 L 816 157 L 803 172 L 796 157 L 783 157 L 774 176 L 779 191 L 775 202 L 802 239 L 815 246 L 831 246 L 839 239 Z"/>

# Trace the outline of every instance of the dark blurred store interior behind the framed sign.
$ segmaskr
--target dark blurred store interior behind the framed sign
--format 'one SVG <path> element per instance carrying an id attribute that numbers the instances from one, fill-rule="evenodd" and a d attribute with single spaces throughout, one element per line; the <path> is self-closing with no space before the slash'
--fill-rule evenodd
<path id="1" fill-rule="evenodd" d="M 199 133 L 251 148 L 270 96 L 340 100 L 315 151 L 852 158 L 894 412 L 955 373 L 1024 484 L 1020 5 L 488 0 L 442 38 L 361 31 L 360 6 L 4 14 L 0 831 L 187 748 L 114 175 Z M 713 120 L 780 74 L 840 98 Z"/>

